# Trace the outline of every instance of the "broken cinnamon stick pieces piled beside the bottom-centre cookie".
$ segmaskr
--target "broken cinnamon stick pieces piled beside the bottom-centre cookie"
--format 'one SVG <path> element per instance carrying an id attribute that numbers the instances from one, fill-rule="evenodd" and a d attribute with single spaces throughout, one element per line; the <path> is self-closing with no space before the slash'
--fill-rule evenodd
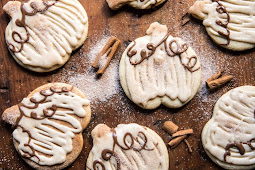
<path id="1" fill-rule="evenodd" d="M 172 121 L 166 121 L 162 127 L 166 132 L 168 132 L 172 139 L 168 143 L 168 145 L 173 149 L 177 147 L 182 141 L 185 142 L 185 144 L 188 147 L 189 152 L 192 152 L 191 145 L 187 141 L 187 138 L 189 135 L 193 134 L 193 129 L 186 129 L 186 130 L 178 130 L 178 126 L 174 124 Z"/>

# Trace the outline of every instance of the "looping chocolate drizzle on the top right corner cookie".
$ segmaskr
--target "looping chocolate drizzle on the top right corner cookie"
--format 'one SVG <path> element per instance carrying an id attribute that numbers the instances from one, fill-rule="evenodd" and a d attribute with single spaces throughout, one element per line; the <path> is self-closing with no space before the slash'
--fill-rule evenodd
<path id="1" fill-rule="evenodd" d="M 220 3 L 220 0 L 213 0 L 213 2 L 216 2 L 218 4 L 218 7 L 216 8 L 216 11 L 218 13 L 227 15 L 227 20 L 226 21 L 222 21 L 222 20 L 217 19 L 216 24 L 223 27 L 223 28 L 225 28 L 226 31 L 227 31 L 227 33 L 224 33 L 222 31 L 218 31 L 218 33 L 220 35 L 222 35 L 223 37 L 225 37 L 227 39 L 227 43 L 226 44 L 221 44 L 221 45 L 229 45 L 229 43 L 230 43 L 230 37 L 229 37 L 230 36 L 230 31 L 228 29 L 228 23 L 230 21 L 230 15 L 229 15 L 227 9 L 223 6 L 223 4 Z"/>

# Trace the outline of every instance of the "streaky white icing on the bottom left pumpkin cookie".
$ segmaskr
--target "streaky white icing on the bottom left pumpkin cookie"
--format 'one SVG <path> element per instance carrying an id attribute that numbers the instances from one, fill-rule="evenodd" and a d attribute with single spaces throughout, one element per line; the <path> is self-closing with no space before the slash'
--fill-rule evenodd
<path id="1" fill-rule="evenodd" d="M 47 90 L 46 93 L 51 94 L 52 91 Z M 44 96 L 37 92 L 33 98 L 39 101 Z M 31 97 L 24 98 L 22 104 L 34 106 L 35 103 L 32 103 L 30 99 Z M 43 110 L 52 113 L 49 108 L 53 105 L 57 106 L 57 111 L 53 116 L 45 117 Z M 66 155 L 73 150 L 72 138 L 82 131 L 80 122 L 73 115 L 85 117 L 86 111 L 83 107 L 87 105 L 89 105 L 87 99 L 83 99 L 71 91 L 54 93 L 52 96 L 48 96 L 45 102 L 39 103 L 35 109 L 21 105 L 20 110 L 24 112 L 24 115 L 13 132 L 14 139 L 19 142 L 19 153 L 22 156 L 29 153 L 32 155 L 30 159 L 39 165 L 63 163 L 66 160 Z M 32 112 L 37 114 L 38 119 L 31 118 Z"/>

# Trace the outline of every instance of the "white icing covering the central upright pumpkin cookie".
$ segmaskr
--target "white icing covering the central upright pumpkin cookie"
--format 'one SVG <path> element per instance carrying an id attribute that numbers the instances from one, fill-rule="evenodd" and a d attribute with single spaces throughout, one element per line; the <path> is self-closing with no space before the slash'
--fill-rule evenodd
<path id="1" fill-rule="evenodd" d="M 179 100 L 181 103 L 187 102 L 192 96 L 192 90 L 195 81 L 200 79 L 195 76 L 195 72 L 189 71 L 182 63 L 188 63 L 188 58 L 195 56 L 194 51 L 188 47 L 187 51 L 179 55 L 174 55 L 169 50 L 169 43 L 176 40 L 182 45 L 184 42 L 180 38 L 169 36 L 166 40 L 167 50 L 173 56 L 169 56 L 165 50 L 165 45 L 162 43 L 155 53 L 148 59 L 143 60 L 138 65 L 132 65 L 131 62 L 141 60 L 140 52 L 146 49 L 148 43 L 158 44 L 167 34 L 167 28 L 158 23 L 151 24 L 147 30 L 147 35 L 135 40 L 136 45 L 132 48 L 137 51 L 131 59 L 127 55 L 127 50 L 124 52 L 125 57 L 125 76 L 128 91 L 133 102 L 146 106 L 148 101 L 156 97 L 169 97 L 170 100 Z M 131 43 L 127 49 L 132 47 Z M 177 49 L 176 43 L 172 44 L 174 50 Z M 194 62 L 194 61 L 193 61 Z M 200 63 L 197 61 L 192 70 L 200 68 Z M 199 83 L 200 84 L 200 83 Z"/>

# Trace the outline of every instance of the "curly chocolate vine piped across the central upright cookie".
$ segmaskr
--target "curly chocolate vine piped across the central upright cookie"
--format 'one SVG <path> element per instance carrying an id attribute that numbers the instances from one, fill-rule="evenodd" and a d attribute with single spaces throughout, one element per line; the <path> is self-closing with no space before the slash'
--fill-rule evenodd
<path id="1" fill-rule="evenodd" d="M 184 43 L 184 44 L 179 44 L 177 42 L 176 39 L 172 39 L 170 42 L 169 42 L 169 49 L 167 48 L 167 39 L 168 37 L 170 36 L 170 34 L 166 34 L 166 36 L 157 44 L 157 45 L 154 45 L 153 43 L 148 43 L 147 44 L 147 49 L 150 50 L 149 53 L 146 52 L 145 49 L 142 49 L 141 52 L 140 52 L 140 56 L 141 56 L 141 60 L 139 60 L 138 62 L 133 62 L 132 61 L 132 57 L 134 55 L 137 54 L 137 50 L 133 49 L 133 47 L 136 45 L 136 42 L 133 41 L 133 45 L 128 49 L 127 51 L 127 55 L 129 57 L 129 62 L 132 64 L 132 65 L 138 65 L 140 63 L 142 63 L 145 59 L 148 59 L 149 57 L 151 57 L 155 51 L 157 50 L 157 48 L 164 43 L 164 47 L 165 47 L 165 51 L 167 53 L 168 56 L 170 57 L 174 57 L 176 55 L 179 56 L 180 58 L 180 62 L 181 64 L 186 68 L 188 69 L 190 72 L 195 72 L 197 70 L 200 69 L 200 67 L 198 67 L 197 69 L 193 70 L 193 68 L 196 66 L 197 64 L 197 56 L 191 56 L 188 58 L 188 63 L 185 64 L 182 59 L 181 59 L 181 54 L 186 52 L 189 48 L 189 46 Z M 173 44 L 176 45 L 176 49 L 173 48 Z M 132 50 L 133 49 L 133 50 Z"/>

